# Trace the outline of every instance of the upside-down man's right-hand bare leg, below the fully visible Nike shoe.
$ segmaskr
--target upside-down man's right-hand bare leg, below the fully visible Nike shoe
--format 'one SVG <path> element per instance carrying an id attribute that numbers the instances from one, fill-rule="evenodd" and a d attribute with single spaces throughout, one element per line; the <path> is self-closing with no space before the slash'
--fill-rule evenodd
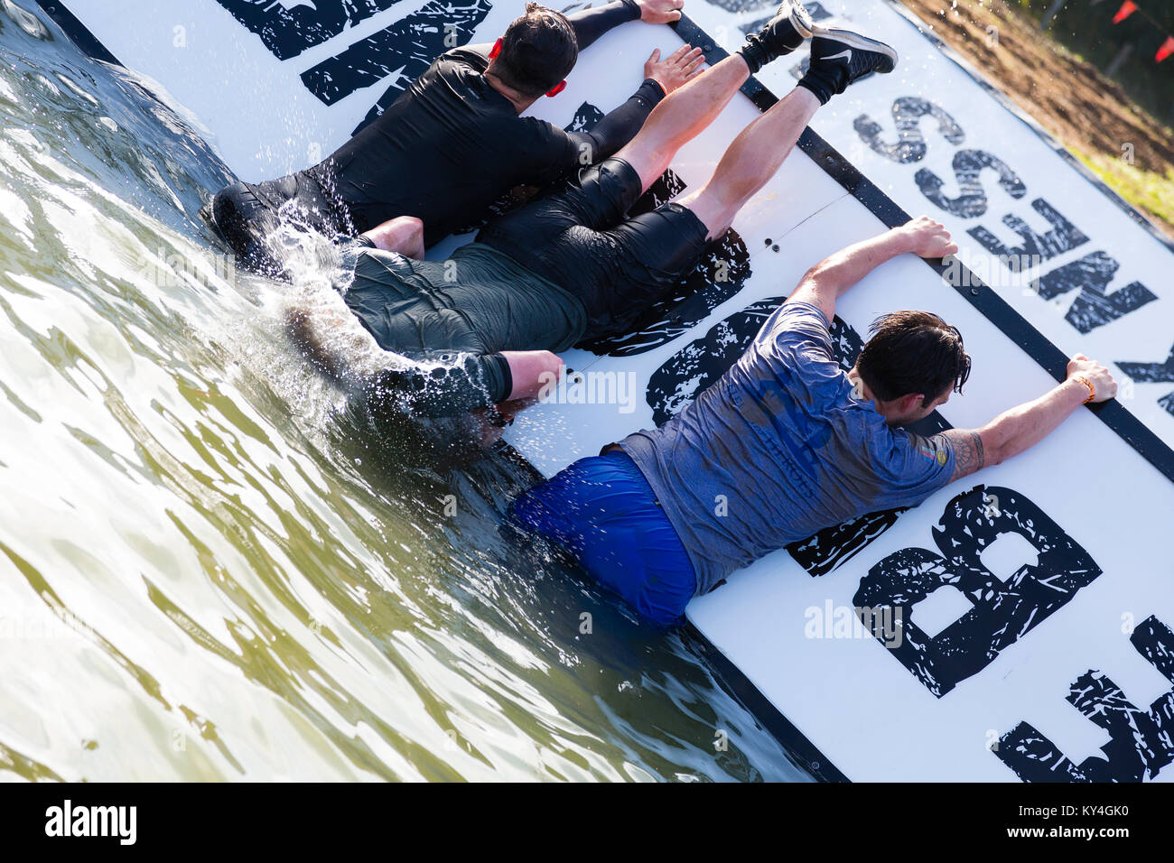
<path id="1" fill-rule="evenodd" d="M 742 204 L 775 175 L 818 107 L 811 90 L 796 87 L 734 139 L 708 183 L 677 198 L 709 229 L 707 240 L 724 234 Z"/>

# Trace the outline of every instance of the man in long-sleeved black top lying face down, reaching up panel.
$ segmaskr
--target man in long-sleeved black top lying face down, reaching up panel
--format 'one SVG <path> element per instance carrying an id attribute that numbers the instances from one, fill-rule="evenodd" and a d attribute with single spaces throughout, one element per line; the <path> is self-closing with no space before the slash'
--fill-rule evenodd
<path id="1" fill-rule="evenodd" d="M 566 16 L 529 2 L 497 45 L 440 55 L 382 116 L 319 164 L 222 189 L 212 220 L 245 267 L 271 276 L 281 276 L 282 267 L 265 237 L 282 221 L 336 237 L 400 217 L 384 228 L 389 242 L 418 234 L 423 223 L 424 245 L 432 245 L 475 222 L 514 187 L 545 186 L 632 140 L 656 103 L 700 72 L 700 49 L 686 46 L 664 60 L 654 52 L 640 88 L 591 133 L 566 133 L 519 115 L 544 94 L 558 93 L 579 50 L 605 32 L 637 18 L 676 20 L 682 5 L 614 0 Z"/>

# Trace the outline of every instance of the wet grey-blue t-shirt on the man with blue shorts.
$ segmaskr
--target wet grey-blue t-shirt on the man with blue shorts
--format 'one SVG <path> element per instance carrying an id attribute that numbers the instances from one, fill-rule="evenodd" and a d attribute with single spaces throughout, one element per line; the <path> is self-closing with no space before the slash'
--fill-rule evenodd
<path id="1" fill-rule="evenodd" d="M 824 527 L 919 504 L 954 467 L 943 439 L 892 429 L 853 397 L 828 321 L 799 302 L 693 404 L 620 445 L 684 544 L 697 593 Z"/>

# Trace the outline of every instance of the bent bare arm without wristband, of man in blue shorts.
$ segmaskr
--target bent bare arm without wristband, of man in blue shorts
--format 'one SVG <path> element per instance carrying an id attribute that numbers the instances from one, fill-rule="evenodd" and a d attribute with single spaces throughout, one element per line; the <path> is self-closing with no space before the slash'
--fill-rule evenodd
<path id="1" fill-rule="evenodd" d="M 940 222 L 918 216 L 880 236 L 841 249 L 808 270 L 788 299 L 818 306 L 828 321 L 836 317 L 836 301 L 877 267 L 910 251 L 919 257 L 953 255 L 958 247 Z"/>

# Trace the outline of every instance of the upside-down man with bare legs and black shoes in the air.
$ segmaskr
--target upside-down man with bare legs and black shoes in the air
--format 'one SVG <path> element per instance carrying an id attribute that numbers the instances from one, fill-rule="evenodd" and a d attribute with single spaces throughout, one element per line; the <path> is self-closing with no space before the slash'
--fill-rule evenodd
<path id="1" fill-rule="evenodd" d="M 753 73 L 812 36 L 798 86 L 742 130 L 708 182 L 626 217 Z M 345 308 L 333 317 L 295 309 L 295 337 L 319 365 L 352 369 L 376 404 L 407 414 L 457 416 L 539 396 L 561 370 L 556 352 L 627 332 L 726 232 L 819 107 L 896 62 L 888 45 L 819 29 L 801 4 L 784 0 L 737 53 L 664 99 L 614 157 L 490 220 L 447 261 L 414 259 L 382 228 L 365 232 L 358 243 L 367 248 L 346 251 L 353 278 Z M 344 345 L 348 324 L 355 338 Z M 382 369 L 349 356 L 364 339 L 367 356 L 382 349 Z"/>

